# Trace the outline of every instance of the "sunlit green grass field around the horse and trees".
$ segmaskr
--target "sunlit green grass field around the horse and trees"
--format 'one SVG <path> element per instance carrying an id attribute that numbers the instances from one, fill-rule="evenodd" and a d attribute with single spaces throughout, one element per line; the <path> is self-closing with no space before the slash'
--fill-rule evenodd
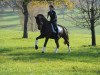
<path id="1" fill-rule="evenodd" d="M 57 54 L 53 40 L 49 40 L 47 50 L 42 54 L 44 39 L 39 41 L 39 50 L 34 49 L 39 32 L 29 32 L 29 38 L 22 39 L 18 17 L 7 12 L 4 15 L 0 19 L 0 75 L 100 75 L 99 26 L 96 28 L 96 47 L 89 46 L 91 35 L 88 30 L 69 28 L 70 54 L 63 39 L 59 41 Z"/>

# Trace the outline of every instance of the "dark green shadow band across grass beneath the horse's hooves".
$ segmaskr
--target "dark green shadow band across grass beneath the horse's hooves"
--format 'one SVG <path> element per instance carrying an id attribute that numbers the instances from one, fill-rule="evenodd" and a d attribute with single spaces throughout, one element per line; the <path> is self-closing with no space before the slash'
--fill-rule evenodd
<path id="1" fill-rule="evenodd" d="M 80 62 L 92 62 L 97 61 L 98 57 L 100 57 L 100 48 L 95 48 L 95 51 L 89 50 L 90 48 L 87 48 L 88 50 L 84 51 L 72 51 L 70 54 L 68 53 L 41 53 L 39 51 L 31 51 L 28 52 L 28 49 L 33 49 L 33 47 L 24 47 L 24 48 L 16 48 L 16 49 L 24 49 L 27 50 L 27 52 L 17 52 L 9 54 L 9 56 L 12 57 L 12 60 L 16 61 L 34 61 L 39 60 L 43 62 L 43 59 L 47 61 L 56 61 L 56 60 L 62 60 L 62 61 L 80 61 Z M 99 50 L 99 51 L 98 51 Z M 99 61 L 99 60 L 98 60 Z"/>

